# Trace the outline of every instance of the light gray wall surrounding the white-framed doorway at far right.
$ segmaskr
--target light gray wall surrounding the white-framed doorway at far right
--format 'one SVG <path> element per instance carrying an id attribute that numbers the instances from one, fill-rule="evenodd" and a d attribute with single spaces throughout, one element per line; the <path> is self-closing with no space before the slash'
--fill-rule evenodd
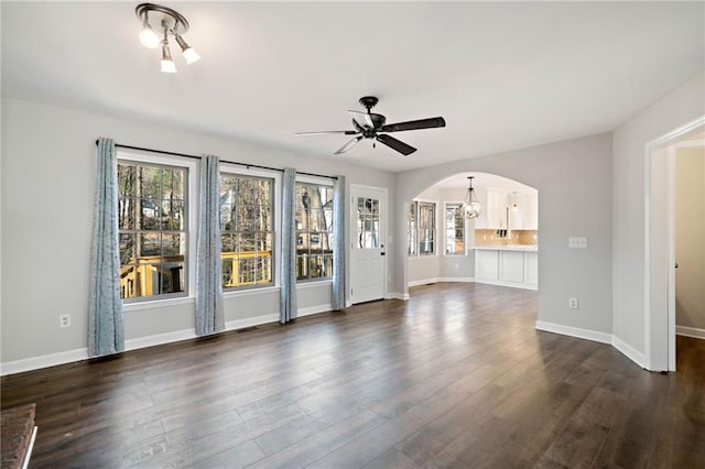
<path id="1" fill-rule="evenodd" d="M 704 85 L 702 72 L 612 134 L 612 332 L 632 355 L 646 355 L 646 145 L 705 113 Z"/>

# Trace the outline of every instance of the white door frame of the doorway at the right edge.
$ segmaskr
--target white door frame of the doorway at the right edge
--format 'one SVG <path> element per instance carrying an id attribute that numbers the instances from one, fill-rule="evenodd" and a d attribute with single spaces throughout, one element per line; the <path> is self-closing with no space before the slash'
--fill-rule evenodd
<path id="1" fill-rule="evenodd" d="M 646 145 L 643 366 L 651 371 L 675 371 L 674 149 L 701 128 L 705 116 Z"/>

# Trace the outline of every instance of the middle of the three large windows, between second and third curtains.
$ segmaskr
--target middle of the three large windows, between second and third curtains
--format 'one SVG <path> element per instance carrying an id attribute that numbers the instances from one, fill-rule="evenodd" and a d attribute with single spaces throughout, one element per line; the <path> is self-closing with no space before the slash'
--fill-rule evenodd
<path id="1" fill-rule="evenodd" d="M 223 287 L 273 284 L 274 179 L 220 174 Z"/>

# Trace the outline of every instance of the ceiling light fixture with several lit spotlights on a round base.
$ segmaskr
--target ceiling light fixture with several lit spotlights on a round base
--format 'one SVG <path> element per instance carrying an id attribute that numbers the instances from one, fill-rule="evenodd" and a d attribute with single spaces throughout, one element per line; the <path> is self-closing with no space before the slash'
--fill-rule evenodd
<path id="1" fill-rule="evenodd" d="M 142 22 L 142 32 L 140 33 L 142 45 L 149 48 L 162 46 L 162 72 L 176 73 L 176 65 L 169 48 L 169 34 L 175 37 L 184 54 L 186 64 L 191 65 L 200 58 L 196 51 L 182 37 L 188 31 L 188 21 L 181 13 L 154 3 L 140 3 L 134 9 L 134 12 Z M 159 24 L 160 32 L 163 32 L 163 39 L 154 31 L 152 24 Z"/>

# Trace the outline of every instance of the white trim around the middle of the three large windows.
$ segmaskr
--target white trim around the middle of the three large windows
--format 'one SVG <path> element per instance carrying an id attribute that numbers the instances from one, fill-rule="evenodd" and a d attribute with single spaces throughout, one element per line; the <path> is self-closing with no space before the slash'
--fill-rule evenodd
<path id="1" fill-rule="evenodd" d="M 272 229 L 274 230 L 273 232 L 273 241 L 274 241 L 274 252 L 272 253 L 272 255 L 274 257 L 274 262 L 272 264 L 272 269 L 274 270 L 274 272 L 272 272 L 272 277 L 274 280 L 274 283 L 272 285 L 253 285 L 253 286 L 249 286 L 249 287 L 239 287 L 239 288 L 232 288 L 232 290 L 224 290 L 223 294 L 224 297 L 228 298 L 231 296 L 237 296 L 239 293 L 243 293 L 243 292 L 252 292 L 252 291 L 257 291 L 257 292 L 263 292 L 267 291 L 267 288 L 279 288 L 280 286 L 280 271 L 281 271 L 281 258 L 282 258 L 282 207 L 281 207 L 281 199 L 282 199 L 282 173 L 280 171 L 267 171 L 267 170 L 260 170 L 260 168 L 256 168 L 256 167 L 250 167 L 250 166 L 241 166 L 238 164 L 231 164 L 231 163 L 220 163 L 220 167 L 218 168 L 218 173 L 229 173 L 229 174 L 240 174 L 243 176 L 254 176 L 254 177 L 265 177 L 269 179 L 274 179 L 274 194 L 272 195 L 273 199 L 273 207 L 272 207 L 272 215 L 274 216 L 274 226 L 272 227 Z"/>

